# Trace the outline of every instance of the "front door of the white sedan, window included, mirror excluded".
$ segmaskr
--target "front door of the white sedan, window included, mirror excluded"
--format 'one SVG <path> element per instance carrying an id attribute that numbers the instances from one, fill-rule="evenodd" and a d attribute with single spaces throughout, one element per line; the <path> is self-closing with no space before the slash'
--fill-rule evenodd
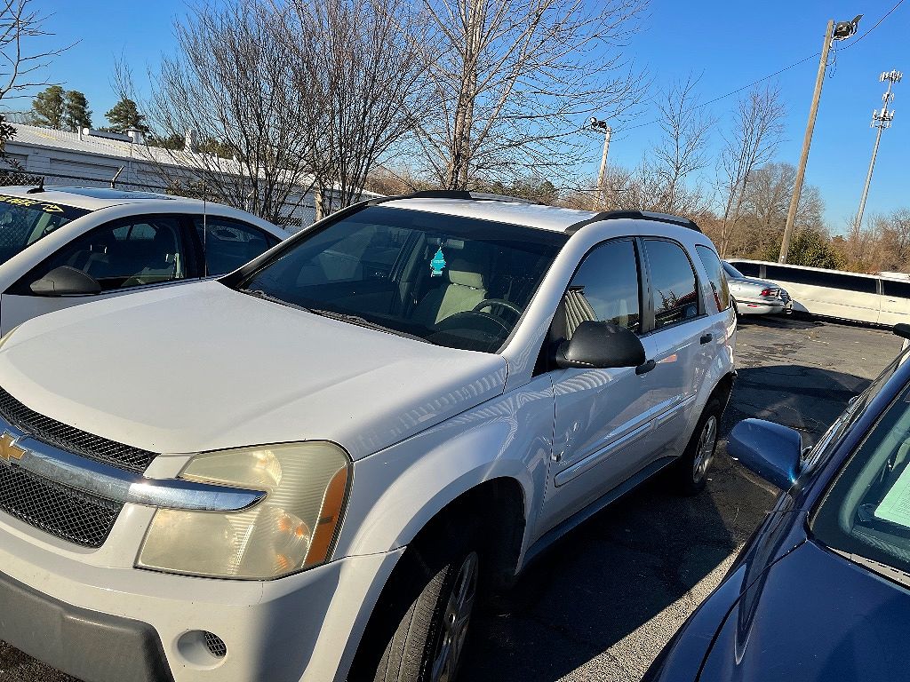
<path id="1" fill-rule="evenodd" d="M 85 273 L 97 294 L 36 295 L 32 285 L 58 267 Z M 141 216 L 107 223 L 78 236 L 10 286 L 2 296 L 6 332 L 31 317 L 195 276 L 178 216 Z M 88 281 L 91 281 L 88 280 Z"/>

